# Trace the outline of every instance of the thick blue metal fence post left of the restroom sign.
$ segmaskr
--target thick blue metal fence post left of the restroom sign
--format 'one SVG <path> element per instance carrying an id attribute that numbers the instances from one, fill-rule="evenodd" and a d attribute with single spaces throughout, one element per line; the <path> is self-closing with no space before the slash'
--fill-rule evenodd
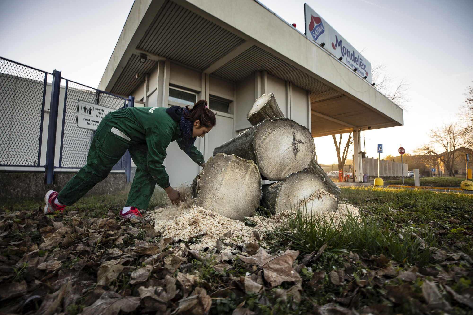
<path id="1" fill-rule="evenodd" d="M 46 184 L 53 184 L 54 153 L 56 149 L 56 130 L 59 112 L 59 92 L 61 90 L 61 71 L 53 71 L 51 104 L 49 107 L 48 142 L 46 145 Z"/>

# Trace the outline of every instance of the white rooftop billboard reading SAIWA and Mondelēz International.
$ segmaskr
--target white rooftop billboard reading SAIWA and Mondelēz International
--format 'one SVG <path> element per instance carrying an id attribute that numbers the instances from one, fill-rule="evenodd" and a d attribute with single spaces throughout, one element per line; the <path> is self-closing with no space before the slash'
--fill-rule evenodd
<path id="1" fill-rule="evenodd" d="M 306 37 L 317 44 L 325 43 L 324 48 L 363 78 L 371 83 L 371 64 L 342 35 L 338 34 L 307 3 L 304 4 L 306 17 Z"/>

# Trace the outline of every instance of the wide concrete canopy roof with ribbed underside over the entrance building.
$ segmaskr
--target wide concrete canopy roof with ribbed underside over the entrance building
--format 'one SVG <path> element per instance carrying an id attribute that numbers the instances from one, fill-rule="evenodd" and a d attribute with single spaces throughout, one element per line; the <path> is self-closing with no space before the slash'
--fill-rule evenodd
<path id="1" fill-rule="evenodd" d="M 400 107 L 254 0 L 135 0 L 98 88 L 130 95 L 164 59 L 233 82 L 265 70 L 309 90 L 314 137 L 403 125 Z"/>

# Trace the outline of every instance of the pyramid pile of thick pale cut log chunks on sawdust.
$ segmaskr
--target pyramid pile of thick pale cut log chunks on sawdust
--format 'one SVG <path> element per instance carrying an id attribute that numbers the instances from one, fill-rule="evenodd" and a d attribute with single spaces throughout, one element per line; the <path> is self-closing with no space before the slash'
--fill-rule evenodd
<path id="1" fill-rule="evenodd" d="M 260 204 L 275 213 L 336 211 L 340 188 L 315 161 L 310 131 L 284 118 L 272 93 L 260 96 L 246 118 L 253 127 L 215 148 L 194 179 L 196 204 L 238 220 Z"/>

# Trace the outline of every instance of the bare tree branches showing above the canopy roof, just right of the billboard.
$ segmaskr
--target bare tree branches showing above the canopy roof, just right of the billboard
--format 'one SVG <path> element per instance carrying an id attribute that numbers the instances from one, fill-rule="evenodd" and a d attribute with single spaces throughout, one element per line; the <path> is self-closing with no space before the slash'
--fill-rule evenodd
<path id="1" fill-rule="evenodd" d="M 409 100 L 407 97 L 409 83 L 406 78 L 403 78 L 396 86 L 396 79 L 397 77 L 387 72 L 384 63 L 375 64 L 373 68 L 371 68 L 371 80 L 375 83 L 377 90 L 389 98 L 394 104 L 406 110 L 405 103 Z"/>

